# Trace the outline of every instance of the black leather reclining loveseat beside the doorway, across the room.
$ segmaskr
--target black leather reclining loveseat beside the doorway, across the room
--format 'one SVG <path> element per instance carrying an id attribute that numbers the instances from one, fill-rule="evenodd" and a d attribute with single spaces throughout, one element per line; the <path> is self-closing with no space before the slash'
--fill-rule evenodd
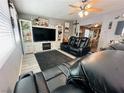
<path id="1" fill-rule="evenodd" d="M 61 50 L 80 57 L 90 51 L 89 41 L 90 39 L 87 37 L 79 38 L 71 36 L 68 42 L 61 43 Z"/>

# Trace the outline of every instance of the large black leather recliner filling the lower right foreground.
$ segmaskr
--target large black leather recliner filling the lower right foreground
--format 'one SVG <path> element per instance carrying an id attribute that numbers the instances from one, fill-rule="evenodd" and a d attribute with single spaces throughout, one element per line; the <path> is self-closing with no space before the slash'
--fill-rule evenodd
<path id="1" fill-rule="evenodd" d="M 93 53 L 70 68 L 67 85 L 53 93 L 124 93 L 124 51 L 106 50 Z M 78 92 L 68 91 L 70 86 Z M 65 87 L 65 88 L 64 88 Z M 67 88 L 68 87 L 68 88 Z M 73 89 L 72 87 L 72 89 Z"/>

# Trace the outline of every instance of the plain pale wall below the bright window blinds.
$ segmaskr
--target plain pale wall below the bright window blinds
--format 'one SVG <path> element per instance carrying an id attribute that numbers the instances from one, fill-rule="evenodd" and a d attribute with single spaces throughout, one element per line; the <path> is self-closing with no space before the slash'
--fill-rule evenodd
<path id="1" fill-rule="evenodd" d="M 13 93 L 19 76 L 21 52 L 16 47 L 0 69 L 0 93 Z"/>

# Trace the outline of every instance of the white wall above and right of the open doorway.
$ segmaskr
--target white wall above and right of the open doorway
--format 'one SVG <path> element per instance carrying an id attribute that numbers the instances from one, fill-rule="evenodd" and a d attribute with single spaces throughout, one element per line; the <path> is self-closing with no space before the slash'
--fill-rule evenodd
<path id="1" fill-rule="evenodd" d="M 100 47 L 106 47 L 109 44 L 110 40 L 120 40 L 120 36 L 115 35 L 115 30 L 117 26 L 117 22 L 120 20 L 124 20 L 124 18 L 115 19 L 116 16 L 121 16 L 124 13 L 124 10 L 118 10 L 118 11 L 112 11 L 110 13 L 106 14 L 100 14 L 94 17 L 91 17 L 89 19 L 81 19 L 78 20 L 80 25 L 87 25 L 87 24 L 94 24 L 97 22 L 102 23 L 102 29 L 99 39 L 98 48 Z M 109 22 L 112 22 L 112 28 L 108 29 Z"/>

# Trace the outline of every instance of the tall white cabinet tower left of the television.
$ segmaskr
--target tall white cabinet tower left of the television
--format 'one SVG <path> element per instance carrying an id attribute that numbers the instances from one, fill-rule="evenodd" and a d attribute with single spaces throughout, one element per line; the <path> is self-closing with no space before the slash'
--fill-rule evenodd
<path id="1" fill-rule="evenodd" d="M 33 53 L 32 23 L 29 20 L 19 20 L 23 52 Z"/>

